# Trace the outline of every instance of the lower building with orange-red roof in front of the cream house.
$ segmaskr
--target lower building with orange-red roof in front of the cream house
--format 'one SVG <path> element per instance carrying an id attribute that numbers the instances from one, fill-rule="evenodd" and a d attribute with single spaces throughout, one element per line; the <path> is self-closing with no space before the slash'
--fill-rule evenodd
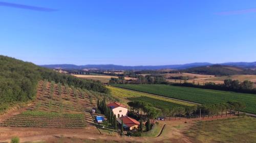
<path id="1" fill-rule="evenodd" d="M 135 119 L 132 119 L 128 116 L 123 116 L 117 119 L 118 123 L 121 125 L 123 120 L 124 130 L 137 130 L 139 128 L 140 122 Z"/>

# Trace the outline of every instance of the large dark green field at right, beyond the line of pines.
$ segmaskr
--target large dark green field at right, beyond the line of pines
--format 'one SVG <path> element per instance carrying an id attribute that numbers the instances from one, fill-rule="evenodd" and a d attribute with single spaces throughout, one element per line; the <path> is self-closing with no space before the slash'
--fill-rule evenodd
<path id="1" fill-rule="evenodd" d="M 246 108 L 243 111 L 256 113 L 256 95 L 254 94 L 176 87 L 164 84 L 115 84 L 115 86 L 197 103 L 241 101 L 246 104 Z"/>

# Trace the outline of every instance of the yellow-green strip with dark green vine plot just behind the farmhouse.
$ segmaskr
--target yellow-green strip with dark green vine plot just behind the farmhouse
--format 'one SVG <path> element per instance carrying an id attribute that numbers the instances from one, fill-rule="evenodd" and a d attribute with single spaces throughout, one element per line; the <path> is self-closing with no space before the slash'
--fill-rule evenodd
<path id="1" fill-rule="evenodd" d="M 190 104 L 187 102 L 172 100 L 164 97 L 154 96 L 150 94 L 143 94 L 138 92 L 133 92 L 129 90 L 119 89 L 115 87 L 107 87 L 110 89 L 113 96 L 119 98 L 126 98 L 131 101 L 146 101 L 153 104 L 157 108 L 171 108 L 177 106 L 193 106 L 195 104 Z"/>

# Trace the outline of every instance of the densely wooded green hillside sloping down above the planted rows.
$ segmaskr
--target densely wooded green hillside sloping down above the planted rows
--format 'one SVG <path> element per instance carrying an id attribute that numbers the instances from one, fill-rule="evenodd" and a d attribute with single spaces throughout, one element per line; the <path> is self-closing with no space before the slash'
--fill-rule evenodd
<path id="1" fill-rule="evenodd" d="M 11 103 L 33 99 L 38 81 L 42 79 L 101 93 L 109 92 L 100 82 L 60 74 L 8 56 L 0 55 L 0 69 L 0 112 L 7 109 Z"/>

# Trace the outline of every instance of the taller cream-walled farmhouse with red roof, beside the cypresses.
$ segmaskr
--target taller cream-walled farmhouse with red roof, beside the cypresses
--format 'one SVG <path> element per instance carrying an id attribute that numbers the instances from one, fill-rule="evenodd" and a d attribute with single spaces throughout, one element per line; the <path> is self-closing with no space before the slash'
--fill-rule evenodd
<path id="1" fill-rule="evenodd" d="M 128 109 L 124 105 L 122 105 L 121 103 L 113 102 L 113 103 L 110 103 L 106 106 L 108 106 L 112 109 L 114 115 L 116 115 L 116 118 L 127 116 Z"/>

